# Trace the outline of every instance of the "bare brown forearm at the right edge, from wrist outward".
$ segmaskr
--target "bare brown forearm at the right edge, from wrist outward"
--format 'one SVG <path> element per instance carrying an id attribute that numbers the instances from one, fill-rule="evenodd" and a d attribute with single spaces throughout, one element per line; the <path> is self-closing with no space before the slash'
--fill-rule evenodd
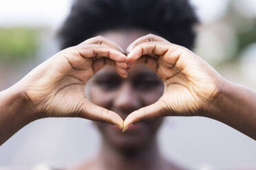
<path id="1" fill-rule="evenodd" d="M 209 115 L 256 140 L 256 93 L 253 90 L 227 82 Z"/>

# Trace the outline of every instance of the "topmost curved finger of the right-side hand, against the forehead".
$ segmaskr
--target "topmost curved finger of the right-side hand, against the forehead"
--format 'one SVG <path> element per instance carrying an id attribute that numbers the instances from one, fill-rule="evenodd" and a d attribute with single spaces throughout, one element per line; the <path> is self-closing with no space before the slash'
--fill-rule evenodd
<path id="1" fill-rule="evenodd" d="M 138 45 L 145 43 L 145 42 L 171 43 L 168 40 L 166 40 L 160 36 L 156 36 L 154 34 L 148 34 L 147 36 L 142 36 L 142 37 L 138 38 L 137 40 L 135 40 L 134 42 L 132 42 L 131 45 L 129 45 L 129 47 L 127 48 L 127 53 L 129 54 L 135 47 L 137 47 Z"/>

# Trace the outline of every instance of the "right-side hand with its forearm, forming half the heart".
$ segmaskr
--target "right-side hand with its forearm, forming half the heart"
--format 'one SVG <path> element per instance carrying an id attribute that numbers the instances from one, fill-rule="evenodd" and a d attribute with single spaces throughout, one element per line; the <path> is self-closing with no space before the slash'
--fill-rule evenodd
<path id="1" fill-rule="evenodd" d="M 164 83 L 155 104 L 129 114 L 131 123 L 166 116 L 202 116 L 222 121 L 256 139 L 256 93 L 224 79 L 195 53 L 164 38 L 149 34 L 127 49 L 131 64 L 144 63 Z"/>

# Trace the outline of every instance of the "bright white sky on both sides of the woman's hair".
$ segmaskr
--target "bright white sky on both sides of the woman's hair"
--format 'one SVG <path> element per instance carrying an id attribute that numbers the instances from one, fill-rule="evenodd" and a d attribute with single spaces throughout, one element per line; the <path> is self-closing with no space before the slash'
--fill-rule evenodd
<path id="1" fill-rule="evenodd" d="M 215 21 L 222 16 L 228 1 L 191 0 L 204 23 Z M 0 26 L 32 25 L 56 28 L 67 16 L 71 3 L 72 0 L 1 0 Z"/>

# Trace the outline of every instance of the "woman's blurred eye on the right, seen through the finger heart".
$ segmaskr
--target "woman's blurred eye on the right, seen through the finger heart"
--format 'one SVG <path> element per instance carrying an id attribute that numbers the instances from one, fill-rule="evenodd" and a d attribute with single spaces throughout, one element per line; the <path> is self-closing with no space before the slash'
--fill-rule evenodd
<path id="1" fill-rule="evenodd" d="M 160 82 L 158 80 L 151 80 L 151 79 L 142 79 L 137 80 L 134 84 L 138 90 L 153 90 L 154 88 L 157 88 L 160 85 Z"/>

